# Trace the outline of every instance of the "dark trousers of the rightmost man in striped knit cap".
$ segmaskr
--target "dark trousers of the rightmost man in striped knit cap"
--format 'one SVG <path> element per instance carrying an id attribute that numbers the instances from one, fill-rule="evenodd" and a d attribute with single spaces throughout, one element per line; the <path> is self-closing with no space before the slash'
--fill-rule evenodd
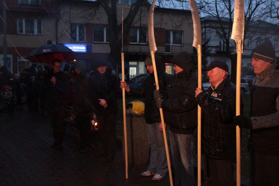
<path id="1" fill-rule="evenodd" d="M 279 156 L 252 152 L 250 185 L 279 185 Z"/>

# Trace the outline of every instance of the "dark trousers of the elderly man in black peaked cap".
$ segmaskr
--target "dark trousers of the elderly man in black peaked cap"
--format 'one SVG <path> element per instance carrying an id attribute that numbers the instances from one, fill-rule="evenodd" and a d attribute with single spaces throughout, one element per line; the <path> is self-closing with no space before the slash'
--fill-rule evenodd
<path id="1" fill-rule="evenodd" d="M 211 186 L 234 186 L 234 163 L 206 157 L 206 171 Z"/>

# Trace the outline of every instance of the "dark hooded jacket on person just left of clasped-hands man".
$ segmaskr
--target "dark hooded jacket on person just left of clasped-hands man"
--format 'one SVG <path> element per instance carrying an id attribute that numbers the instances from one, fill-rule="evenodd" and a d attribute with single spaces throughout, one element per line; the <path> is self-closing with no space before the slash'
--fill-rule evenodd
<path id="1" fill-rule="evenodd" d="M 89 98 L 88 83 L 90 75 L 86 73 L 86 62 L 78 60 L 73 68 L 80 71 L 73 84 L 73 110 L 75 115 L 92 116 L 92 105 Z"/>

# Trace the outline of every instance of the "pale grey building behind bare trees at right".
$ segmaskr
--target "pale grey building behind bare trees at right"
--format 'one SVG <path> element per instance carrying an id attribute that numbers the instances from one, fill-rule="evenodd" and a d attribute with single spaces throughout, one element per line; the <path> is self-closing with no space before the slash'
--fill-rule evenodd
<path id="1" fill-rule="evenodd" d="M 227 18 L 222 18 L 223 25 L 226 25 Z M 231 72 L 231 61 L 226 56 L 226 43 L 220 37 L 222 31 L 220 29 L 220 21 L 213 16 L 206 16 L 201 18 L 201 25 L 203 30 L 203 39 L 208 40 L 206 48 L 210 51 L 205 57 L 205 61 L 213 61 L 221 59 L 227 62 L 229 71 Z M 249 30 L 244 37 L 243 53 L 241 59 L 242 75 L 246 75 L 247 72 L 253 71 L 251 65 L 250 54 L 252 50 L 261 42 L 270 40 L 273 43 L 273 47 L 276 52 L 276 57 L 279 58 L 279 26 L 273 25 L 266 21 L 254 21 L 250 24 Z M 230 39 L 230 51 L 231 54 L 235 53 L 235 41 Z"/>

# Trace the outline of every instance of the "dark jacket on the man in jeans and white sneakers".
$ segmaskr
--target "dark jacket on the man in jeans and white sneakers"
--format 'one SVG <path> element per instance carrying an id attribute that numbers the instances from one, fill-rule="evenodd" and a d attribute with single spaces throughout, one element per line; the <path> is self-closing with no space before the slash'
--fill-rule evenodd
<path id="1" fill-rule="evenodd" d="M 159 88 L 165 90 L 167 84 L 173 76 L 164 72 L 160 59 L 155 58 Z M 160 111 L 154 100 L 154 90 L 156 89 L 154 73 L 149 74 L 138 88 L 130 88 L 129 95 L 136 98 L 145 98 L 144 118 L 147 124 L 160 123 Z"/>

